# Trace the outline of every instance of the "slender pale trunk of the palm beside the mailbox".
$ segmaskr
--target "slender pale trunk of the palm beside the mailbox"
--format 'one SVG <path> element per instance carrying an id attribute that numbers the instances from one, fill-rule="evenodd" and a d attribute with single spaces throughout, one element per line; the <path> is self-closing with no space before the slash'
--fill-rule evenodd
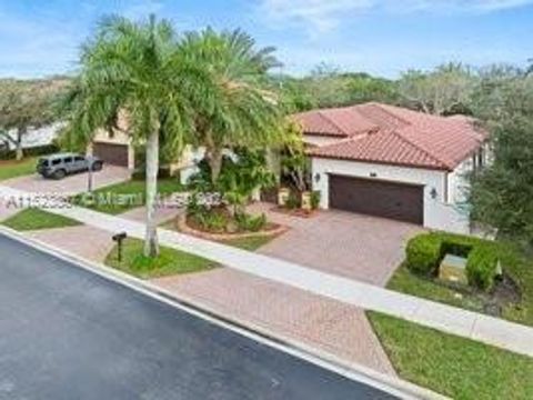
<path id="1" fill-rule="evenodd" d="M 144 256 L 159 254 L 158 227 L 154 219 L 158 193 L 159 170 L 159 128 L 154 129 L 147 141 L 147 231 L 144 234 Z"/>

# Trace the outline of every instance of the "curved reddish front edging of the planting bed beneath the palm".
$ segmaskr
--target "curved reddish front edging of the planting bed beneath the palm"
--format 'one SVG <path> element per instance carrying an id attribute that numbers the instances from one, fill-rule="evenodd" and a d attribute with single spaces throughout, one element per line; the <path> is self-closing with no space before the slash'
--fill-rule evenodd
<path id="1" fill-rule="evenodd" d="M 175 228 L 183 233 L 191 234 L 201 239 L 227 241 L 233 239 L 258 238 L 258 237 L 276 237 L 286 232 L 288 228 L 276 224 L 266 223 L 263 229 L 257 232 L 210 232 L 202 229 L 193 218 L 181 214 L 175 219 Z"/>

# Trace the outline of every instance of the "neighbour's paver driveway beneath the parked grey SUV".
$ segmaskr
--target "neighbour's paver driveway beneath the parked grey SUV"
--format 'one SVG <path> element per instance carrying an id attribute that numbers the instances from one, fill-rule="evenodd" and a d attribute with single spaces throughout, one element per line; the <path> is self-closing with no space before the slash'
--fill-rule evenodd
<path id="1" fill-rule="evenodd" d="M 104 166 L 100 172 L 93 174 L 93 188 L 102 188 L 109 184 L 123 182 L 131 177 L 131 171 L 127 168 Z M 88 174 L 78 173 L 69 176 L 61 180 L 43 179 L 39 174 L 14 178 L 2 181 L 3 186 L 34 193 L 60 193 L 76 194 L 87 191 Z"/>

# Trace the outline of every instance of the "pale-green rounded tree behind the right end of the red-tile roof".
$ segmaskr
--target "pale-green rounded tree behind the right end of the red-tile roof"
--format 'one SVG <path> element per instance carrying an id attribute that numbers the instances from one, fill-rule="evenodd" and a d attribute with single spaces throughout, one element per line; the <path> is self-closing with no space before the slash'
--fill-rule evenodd
<path id="1" fill-rule="evenodd" d="M 470 113 L 469 104 L 476 80 L 460 63 L 447 63 L 434 71 L 410 70 L 399 81 L 403 106 L 425 113 L 446 116 Z"/>

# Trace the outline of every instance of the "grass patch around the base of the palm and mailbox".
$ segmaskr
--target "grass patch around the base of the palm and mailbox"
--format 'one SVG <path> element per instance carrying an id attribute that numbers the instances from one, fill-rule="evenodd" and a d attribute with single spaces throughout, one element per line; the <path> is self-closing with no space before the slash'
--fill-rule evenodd
<path id="1" fill-rule="evenodd" d="M 159 257 L 147 258 L 142 253 L 143 241 L 127 239 L 122 249 L 122 262 L 118 261 L 118 246 L 105 258 L 105 264 L 141 279 L 210 270 L 217 263 L 179 250 L 161 247 Z"/>

